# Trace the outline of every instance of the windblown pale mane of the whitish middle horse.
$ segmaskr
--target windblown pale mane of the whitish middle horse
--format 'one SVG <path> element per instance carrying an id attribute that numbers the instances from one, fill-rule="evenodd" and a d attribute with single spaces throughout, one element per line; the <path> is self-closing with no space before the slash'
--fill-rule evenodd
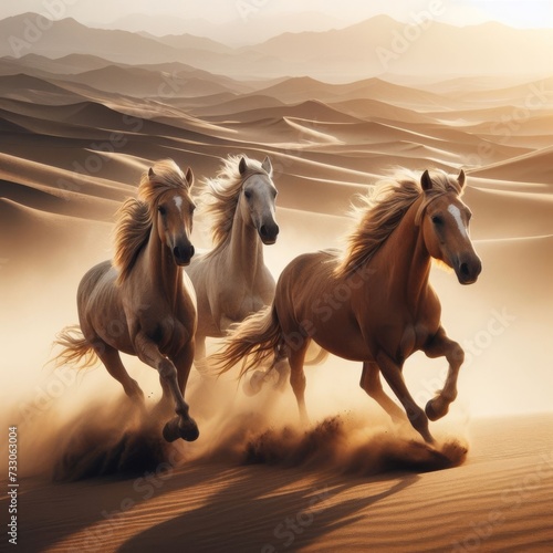
<path id="1" fill-rule="evenodd" d="M 258 160 L 249 158 L 247 159 L 248 171 L 241 174 L 239 165 L 242 157 L 244 156 L 229 156 L 223 160 L 217 176 L 204 182 L 199 209 L 200 212 L 212 218 L 213 249 L 210 253 L 225 243 L 230 233 L 243 181 L 255 173 L 267 175 Z"/>

